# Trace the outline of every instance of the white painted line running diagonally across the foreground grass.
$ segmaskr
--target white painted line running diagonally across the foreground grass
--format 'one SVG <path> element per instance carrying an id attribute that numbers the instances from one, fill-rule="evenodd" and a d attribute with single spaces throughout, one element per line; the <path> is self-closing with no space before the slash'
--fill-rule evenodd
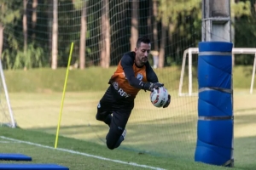
<path id="1" fill-rule="evenodd" d="M 106 158 L 106 157 L 102 157 L 102 156 L 94 156 L 94 155 L 86 154 L 86 153 L 79 152 L 79 151 L 67 150 L 67 149 L 63 149 L 63 148 L 54 148 L 54 147 L 50 147 L 50 146 L 43 145 L 43 144 L 36 144 L 36 143 L 32 143 L 32 142 L 28 142 L 28 141 L 23 141 L 23 140 L 18 140 L 18 139 L 11 139 L 11 138 L 8 138 L 8 137 L 5 137 L 5 136 L 0 136 L 0 138 L 1 139 L 11 140 L 13 142 L 23 143 L 23 144 L 30 144 L 30 145 L 38 146 L 38 147 L 41 147 L 41 148 L 47 148 L 47 149 L 50 149 L 50 150 L 61 150 L 61 151 L 65 151 L 65 152 L 68 152 L 68 153 L 71 153 L 71 154 L 80 155 L 80 156 L 93 157 L 93 158 L 96 158 L 96 159 L 99 159 L 99 160 L 113 161 L 113 162 L 116 162 L 116 163 L 121 163 L 121 164 L 125 164 L 125 165 L 131 165 L 131 166 L 134 166 L 134 167 L 144 167 L 144 168 L 148 168 L 148 169 L 165 170 L 165 169 L 160 168 L 160 167 L 151 167 L 151 166 L 148 166 L 148 165 L 137 164 L 135 162 L 119 161 L 119 160 L 114 160 L 114 159 L 110 159 L 110 158 Z"/>

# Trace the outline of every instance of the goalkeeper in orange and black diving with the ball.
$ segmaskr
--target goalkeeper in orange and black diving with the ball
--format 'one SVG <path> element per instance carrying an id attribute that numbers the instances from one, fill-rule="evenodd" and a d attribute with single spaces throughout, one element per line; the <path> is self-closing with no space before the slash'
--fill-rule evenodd
<path id="1" fill-rule="evenodd" d="M 108 149 L 118 148 L 125 139 L 125 126 L 134 107 L 137 93 L 143 89 L 153 91 L 163 87 L 148 63 L 151 44 L 148 37 L 139 37 L 134 51 L 122 56 L 116 71 L 109 80 L 109 87 L 97 105 L 96 119 L 105 122 L 109 131 L 106 136 Z M 168 107 L 171 96 L 168 94 Z"/>

